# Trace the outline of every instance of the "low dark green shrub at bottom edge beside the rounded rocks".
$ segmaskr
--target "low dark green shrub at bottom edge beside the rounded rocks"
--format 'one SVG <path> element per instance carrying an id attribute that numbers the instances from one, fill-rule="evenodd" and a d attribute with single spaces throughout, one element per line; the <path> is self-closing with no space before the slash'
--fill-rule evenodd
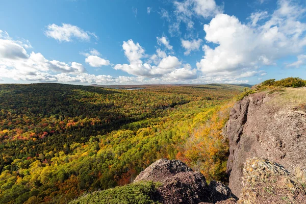
<path id="1" fill-rule="evenodd" d="M 159 203 L 155 201 L 156 189 L 160 186 L 160 183 L 154 182 L 139 182 L 135 184 L 129 184 L 125 186 L 118 186 L 113 189 L 107 189 L 104 191 L 96 191 L 80 197 L 70 202 L 70 204 L 85 204 L 85 203 Z"/>

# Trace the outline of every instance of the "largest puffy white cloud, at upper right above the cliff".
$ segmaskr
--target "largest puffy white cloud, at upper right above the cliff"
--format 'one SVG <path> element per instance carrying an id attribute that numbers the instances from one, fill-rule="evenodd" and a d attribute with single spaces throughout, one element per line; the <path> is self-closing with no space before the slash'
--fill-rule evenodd
<path id="1" fill-rule="evenodd" d="M 251 17 L 251 24 L 243 24 L 235 16 L 218 14 L 204 25 L 205 39 L 216 46 L 203 46 L 205 55 L 197 68 L 206 74 L 239 75 L 300 53 L 306 45 L 306 24 L 298 19 L 304 12 L 291 1 L 283 0 L 261 25 L 257 24 L 260 17 Z"/>

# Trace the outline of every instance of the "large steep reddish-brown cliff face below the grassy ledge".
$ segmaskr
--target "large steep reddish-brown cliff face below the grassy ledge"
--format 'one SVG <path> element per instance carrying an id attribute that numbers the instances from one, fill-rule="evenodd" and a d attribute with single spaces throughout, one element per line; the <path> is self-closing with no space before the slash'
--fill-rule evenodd
<path id="1" fill-rule="evenodd" d="M 230 113 L 225 134 L 230 141 L 227 171 L 232 192 L 239 197 L 243 165 L 248 158 L 277 162 L 289 171 L 306 168 L 306 114 L 286 105 L 280 93 L 251 94 Z"/>

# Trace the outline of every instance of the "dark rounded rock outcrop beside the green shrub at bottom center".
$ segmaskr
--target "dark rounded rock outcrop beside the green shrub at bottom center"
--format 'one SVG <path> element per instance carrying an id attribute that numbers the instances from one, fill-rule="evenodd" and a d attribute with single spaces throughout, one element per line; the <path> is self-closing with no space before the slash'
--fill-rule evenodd
<path id="1" fill-rule="evenodd" d="M 142 171 L 134 182 L 161 182 L 157 189 L 158 200 L 165 204 L 174 203 L 216 203 L 235 196 L 220 182 L 206 183 L 205 177 L 192 171 L 179 160 L 161 159 Z"/>

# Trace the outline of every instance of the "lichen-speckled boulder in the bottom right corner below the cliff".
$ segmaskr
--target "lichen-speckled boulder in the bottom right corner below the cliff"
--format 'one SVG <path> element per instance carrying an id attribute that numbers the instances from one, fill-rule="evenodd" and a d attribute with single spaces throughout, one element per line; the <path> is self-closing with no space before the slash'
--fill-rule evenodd
<path id="1" fill-rule="evenodd" d="M 243 168 L 242 203 L 306 203 L 305 184 L 283 166 L 250 158 Z"/>

